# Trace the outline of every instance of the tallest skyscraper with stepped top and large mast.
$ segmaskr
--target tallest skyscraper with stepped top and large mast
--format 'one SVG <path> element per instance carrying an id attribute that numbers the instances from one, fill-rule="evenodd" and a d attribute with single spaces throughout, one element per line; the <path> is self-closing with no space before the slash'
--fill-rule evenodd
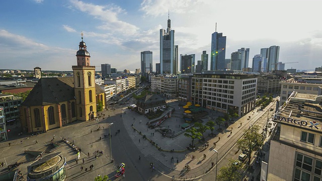
<path id="1" fill-rule="evenodd" d="M 168 28 L 160 29 L 160 73 L 178 73 L 178 45 L 175 45 L 175 30 L 171 30 L 171 20 Z"/>

